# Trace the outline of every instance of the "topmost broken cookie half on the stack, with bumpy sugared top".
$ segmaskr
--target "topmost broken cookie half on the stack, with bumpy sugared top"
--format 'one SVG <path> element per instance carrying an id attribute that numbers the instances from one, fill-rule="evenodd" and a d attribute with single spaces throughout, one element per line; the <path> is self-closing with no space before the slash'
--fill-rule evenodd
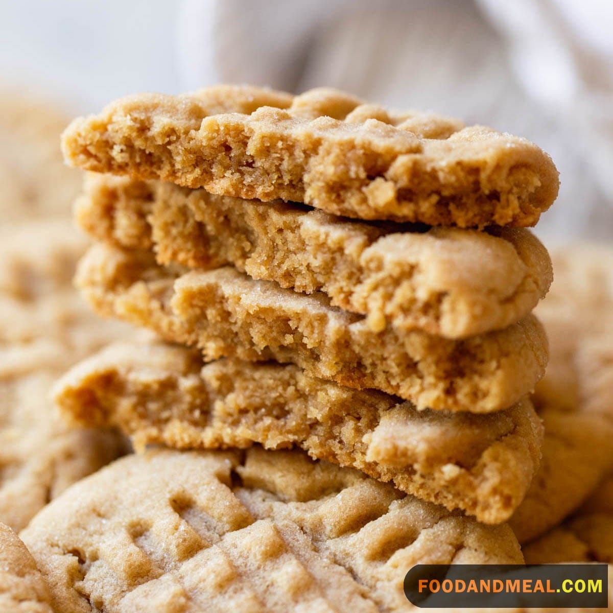
<path id="1" fill-rule="evenodd" d="M 86 170 L 430 225 L 530 226 L 558 193 L 553 162 L 525 139 L 325 88 L 130 96 L 73 121 L 63 151 Z"/>

